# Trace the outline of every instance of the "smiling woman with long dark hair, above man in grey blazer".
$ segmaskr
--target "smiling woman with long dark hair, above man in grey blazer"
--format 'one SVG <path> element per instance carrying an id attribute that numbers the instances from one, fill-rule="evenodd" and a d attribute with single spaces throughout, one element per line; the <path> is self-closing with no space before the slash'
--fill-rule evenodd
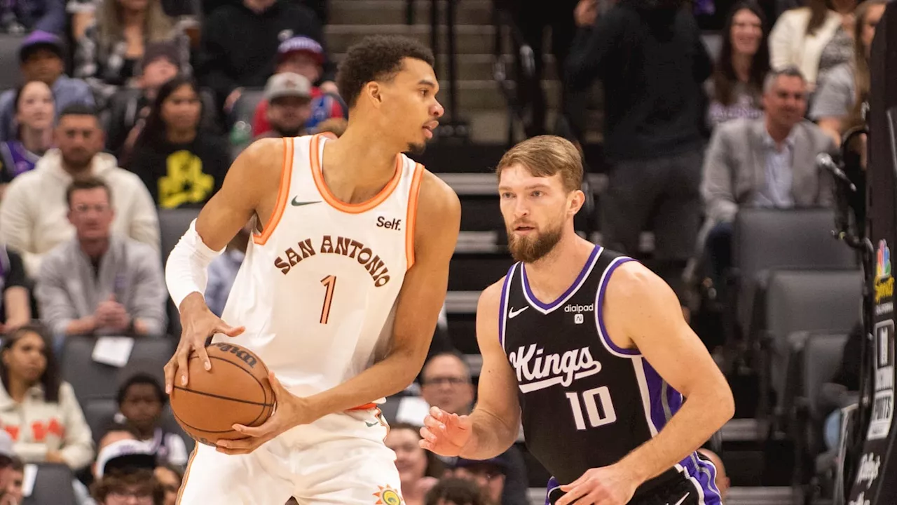
<path id="1" fill-rule="evenodd" d="M 726 20 L 722 49 L 708 86 L 710 128 L 727 120 L 759 118 L 763 78 L 769 71 L 763 11 L 753 0 L 739 2 Z"/>

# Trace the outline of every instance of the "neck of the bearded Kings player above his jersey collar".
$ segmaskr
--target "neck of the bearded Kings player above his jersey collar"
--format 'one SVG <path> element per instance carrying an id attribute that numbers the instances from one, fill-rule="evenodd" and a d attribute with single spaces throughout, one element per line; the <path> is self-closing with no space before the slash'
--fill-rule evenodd
<path id="1" fill-rule="evenodd" d="M 564 234 L 551 253 L 527 263 L 527 284 L 537 298 L 551 302 L 560 297 L 579 276 L 582 267 L 595 249 L 572 231 Z"/>

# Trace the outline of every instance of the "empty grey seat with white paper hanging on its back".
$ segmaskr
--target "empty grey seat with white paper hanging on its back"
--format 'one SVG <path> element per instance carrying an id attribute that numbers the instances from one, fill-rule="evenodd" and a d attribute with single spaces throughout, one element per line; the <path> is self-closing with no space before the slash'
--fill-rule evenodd
<path id="1" fill-rule="evenodd" d="M 92 359 L 96 339 L 66 337 L 62 351 L 62 377 L 74 387 L 78 402 L 84 405 L 91 398 L 115 398 L 125 375 L 144 371 L 164 383 L 162 368 L 175 350 L 175 342 L 167 338 L 135 339 L 134 349 L 125 368 L 115 368 Z"/>

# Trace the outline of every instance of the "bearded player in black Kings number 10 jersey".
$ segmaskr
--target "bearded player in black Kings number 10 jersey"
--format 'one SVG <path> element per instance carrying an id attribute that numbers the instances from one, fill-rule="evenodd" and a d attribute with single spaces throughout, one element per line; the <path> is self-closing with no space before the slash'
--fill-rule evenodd
<path id="1" fill-rule="evenodd" d="M 522 420 L 556 505 L 718 505 L 695 449 L 735 407 L 672 289 L 574 233 L 585 196 L 570 142 L 533 137 L 497 170 L 518 262 L 477 306 L 479 403 L 470 416 L 431 409 L 422 447 L 490 458 Z"/>

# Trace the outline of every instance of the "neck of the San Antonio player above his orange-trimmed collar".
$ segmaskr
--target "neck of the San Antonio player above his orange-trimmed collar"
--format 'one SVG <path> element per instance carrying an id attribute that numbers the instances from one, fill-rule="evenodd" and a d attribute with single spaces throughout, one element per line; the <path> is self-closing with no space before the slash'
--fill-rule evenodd
<path id="1" fill-rule="evenodd" d="M 354 126 L 354 125 L 353 125 Z M 347 128 L 338 141 L 324 146 L 323 169 L 325 174 L 341 179 L 351 174 L 355 186 L 383 186 L 396 173 L 396 155 L 399 151 L 376 139 L 375 132 L 362 128 Z"/>

